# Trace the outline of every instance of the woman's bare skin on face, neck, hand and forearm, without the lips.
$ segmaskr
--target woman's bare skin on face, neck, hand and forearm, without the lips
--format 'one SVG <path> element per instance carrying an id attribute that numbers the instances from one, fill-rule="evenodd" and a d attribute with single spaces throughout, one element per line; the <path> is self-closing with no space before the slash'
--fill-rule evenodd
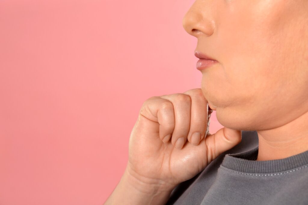
<path id="1" fill-rule="evenodd" d="M 127 168 L 105 204 L 165 204 L 179 183 L 240 143 L 241 130 L 257 131 L 259 161 L 306 151 L 307 10 L 306 0 L 195 1 L 184 29 L 218 63 L 201 70 L 201 89 L 144 102 Z M 207 105 L 225 127 L 205 136 Z"/>

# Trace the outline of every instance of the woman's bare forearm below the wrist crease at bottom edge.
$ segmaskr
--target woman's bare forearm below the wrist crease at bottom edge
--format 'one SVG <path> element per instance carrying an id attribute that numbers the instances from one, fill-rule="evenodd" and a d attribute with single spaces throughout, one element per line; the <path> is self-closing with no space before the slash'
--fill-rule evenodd
<path id="1" fill-rule="evenodd" d="M 161 186 L 144 183 L 125 170 L 120 182 L 115 187 L 104 205 L 117 204 L 166 204 L 175 186 Z"/>

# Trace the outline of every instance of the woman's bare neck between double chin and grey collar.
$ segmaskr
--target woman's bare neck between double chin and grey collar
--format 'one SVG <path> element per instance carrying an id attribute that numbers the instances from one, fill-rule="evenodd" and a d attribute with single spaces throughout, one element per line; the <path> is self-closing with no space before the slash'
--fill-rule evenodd
<path id="1" fill-rule="evenodd" d="M 292 111 L 286 117 L 290 118 L 289 122 L 283 126 L 257 131 L 259 138 L 257 161 L 279 160 L 308 150 L 308 112 L 299 117 L 295 117 L 296 114 L 300 115 Z"/>

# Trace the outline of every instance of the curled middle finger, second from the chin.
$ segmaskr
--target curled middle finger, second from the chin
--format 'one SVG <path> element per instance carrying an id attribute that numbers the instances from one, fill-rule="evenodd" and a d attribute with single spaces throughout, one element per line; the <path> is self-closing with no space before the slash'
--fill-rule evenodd
<path id="1" fill-rule="evenodd" d="M 175 126 L 172 133 L 171 144 L 181 149 L 187 141 L 190 127 L 191 98 L 183 93 L 161 96 L 173 104 Z"/>

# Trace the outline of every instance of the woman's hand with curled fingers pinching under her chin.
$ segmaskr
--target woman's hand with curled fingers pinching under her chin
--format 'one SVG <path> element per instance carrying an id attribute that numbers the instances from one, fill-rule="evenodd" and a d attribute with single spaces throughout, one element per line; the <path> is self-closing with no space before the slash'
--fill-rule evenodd
<path id="1" fill-rule="evenodd" d="M 193 178 L 241 142 L 241 131 L 226 127 L 206 135 L 211 112 L 199 88 L 147 99 L 130 135 L 127 171 L 159 187 Z"/>

